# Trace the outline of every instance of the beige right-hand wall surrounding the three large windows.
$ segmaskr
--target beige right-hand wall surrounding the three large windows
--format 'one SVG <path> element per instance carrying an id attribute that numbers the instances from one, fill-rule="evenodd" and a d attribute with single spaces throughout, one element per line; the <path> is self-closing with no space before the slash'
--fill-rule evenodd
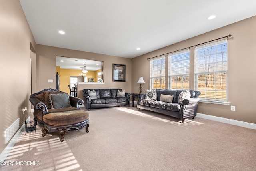
<path id="1" fill-rule="evenodd" d="M 132 92 L 138 92 L 139 84 L 136 82 L 139 76 L 143 76 L 146 82 L 143 84 L 143 91 L 150 89 L 150 61 L 147 58 L 232 34 L 228 39 L 228 102 L 236 106 L 236 111 L 231 111 L 230 105 L 199 103 L 198 113 L 256 123 L 256 111 L 253 107 L 256 104 L 255 30 L 256 16 L 133 58 Z M 168 78 L 167 67 L 166 74 Z M 194 48 L 190 48 L 190 89 L 194 89 Z"/>

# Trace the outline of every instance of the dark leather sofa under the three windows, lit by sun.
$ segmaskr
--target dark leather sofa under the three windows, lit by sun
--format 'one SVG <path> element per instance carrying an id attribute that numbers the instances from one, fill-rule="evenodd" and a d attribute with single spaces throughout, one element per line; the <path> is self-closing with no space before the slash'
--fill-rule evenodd
<path id="1" fill-rule="evenodd" d="M 138 110 L 144 109 L 149 111 L 154 111 L 157 113 L 161 113 L 164 115 L 172 116 L 178 118 L 184 122 L 185 119 L 193 118 L 196 116 L 198 103 L 199 103 L 199 95 L 200 91 L 191 91 L 189 90 L 191 96 L 189 99 L 184 99 L 182 103 L 178 103 L 179 94 L 182 90 L 162 90 L 156 89 L 157 92 L 157 100 L 146 100 L 145 94 L 138 95 L 139 99 L 137 102 Z M 173 100 L 171 103 L 166 103 L 160 101 L 161 94 L 164 95 L 173 95 Z"/>

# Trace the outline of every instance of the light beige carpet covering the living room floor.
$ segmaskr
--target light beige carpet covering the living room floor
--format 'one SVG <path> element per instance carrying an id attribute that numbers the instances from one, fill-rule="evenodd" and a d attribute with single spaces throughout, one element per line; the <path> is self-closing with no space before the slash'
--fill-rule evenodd
<path id="1" fill-rule="evenodd" d="M 41 127 L 24 131 L 6 159 L 15 165 L 0 170 L 256 170 L 254 129 L 198 117 L 182 124 L 136 107 L 91 109 L 89 123 L 88 134 L 85 129 L 68 132 L 62 143 L 57 133 L 42 137 Z"/>

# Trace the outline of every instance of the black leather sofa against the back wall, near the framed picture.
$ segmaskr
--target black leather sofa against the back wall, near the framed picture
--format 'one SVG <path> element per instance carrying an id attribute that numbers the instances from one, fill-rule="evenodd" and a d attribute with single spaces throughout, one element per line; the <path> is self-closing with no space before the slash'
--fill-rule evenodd
<path id="1" fill-rule="evenodd" d="M 95 91 L 96 97 L 92 98 L 88 91 Z M 130 93 L 125 93 L 124 97 L 117 97 L 117 92 L 122 89 L 83 89 L 84 92 L 84 107 L 90 109 L 116 107 L 116 106 L 130 106 Z"/>

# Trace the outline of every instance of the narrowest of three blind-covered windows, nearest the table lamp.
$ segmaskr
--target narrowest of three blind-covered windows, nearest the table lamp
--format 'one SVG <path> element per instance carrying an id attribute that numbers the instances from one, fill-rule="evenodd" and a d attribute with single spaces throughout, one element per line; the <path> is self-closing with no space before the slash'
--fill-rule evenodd
<path id="1" fill-rule="evenodd" d="M 165 89 L 165 57 L 150 60 L 150 89 Z"/>

